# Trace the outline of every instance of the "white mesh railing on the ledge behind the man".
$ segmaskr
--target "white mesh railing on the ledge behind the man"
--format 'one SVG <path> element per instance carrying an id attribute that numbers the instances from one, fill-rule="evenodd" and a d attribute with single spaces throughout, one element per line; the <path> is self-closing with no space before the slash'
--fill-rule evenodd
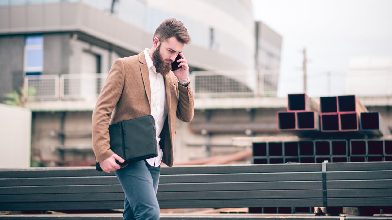
<path id="1" fill-rule="evenodd" d="M 256 76 L 255 71 L 194 71 L 190 78 L 196 97 L 275 96 L 278 72 Z M 107 73 L 36 75 L 25 77 L 25 87 L 34 87 L 33 99 L 96 100 Z M 257 83 L 257 78 L 259 82 Z"/>

